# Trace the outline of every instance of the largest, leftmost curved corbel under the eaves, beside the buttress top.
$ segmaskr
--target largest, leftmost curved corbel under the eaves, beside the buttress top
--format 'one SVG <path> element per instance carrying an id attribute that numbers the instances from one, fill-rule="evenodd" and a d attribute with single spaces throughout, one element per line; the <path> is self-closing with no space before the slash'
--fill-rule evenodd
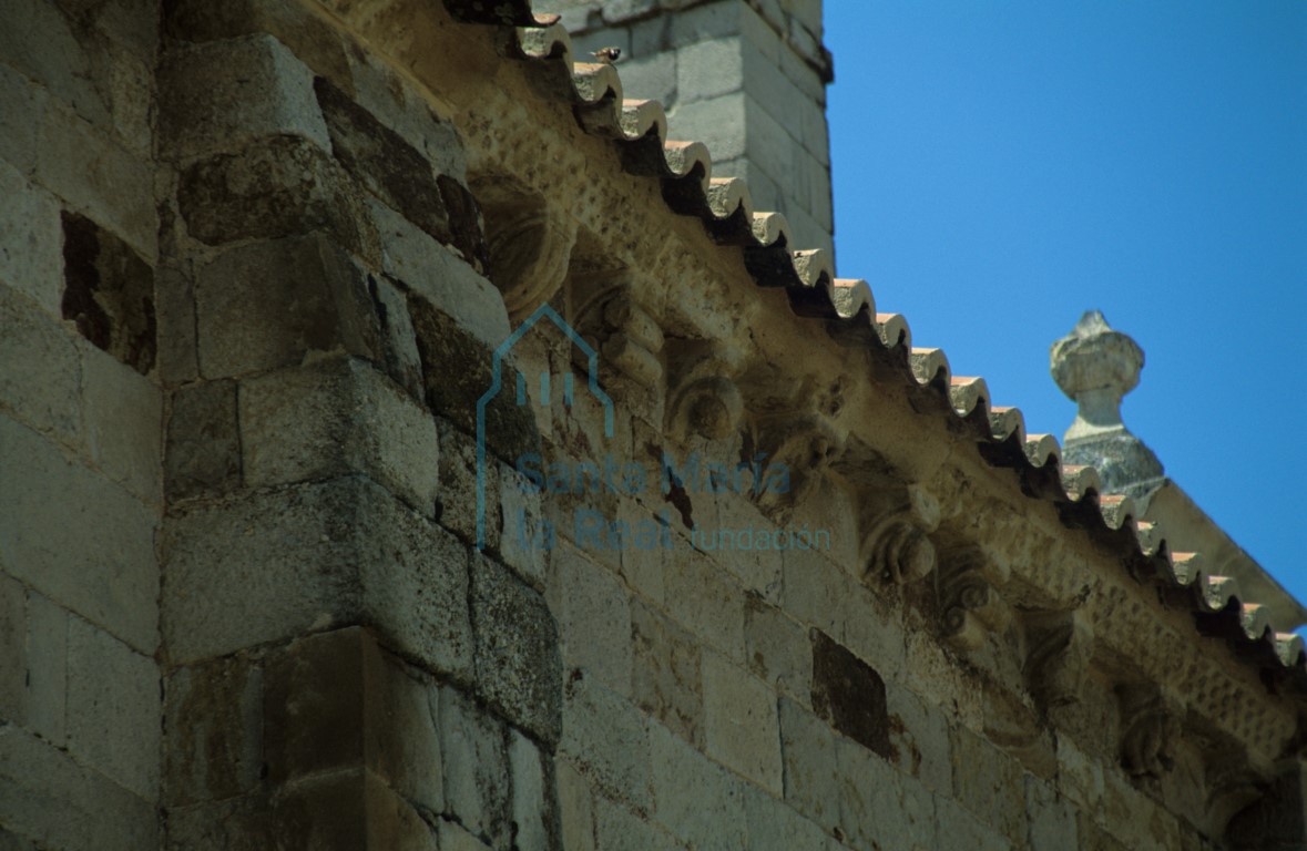
<path id="1" fill-rule="evenodd" d="M 571 261 L 576 222 L 544 197 L 495 178 L 472 183 L 490 250 L 490 280 L 519 323 L 553 298 Z"/>

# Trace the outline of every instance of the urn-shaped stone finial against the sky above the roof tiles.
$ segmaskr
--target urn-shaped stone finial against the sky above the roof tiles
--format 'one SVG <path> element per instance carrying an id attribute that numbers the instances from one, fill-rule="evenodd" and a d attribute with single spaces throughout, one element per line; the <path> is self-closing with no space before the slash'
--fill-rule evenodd
<path id="1" fill-rule="evenodd" d="M 1052 345 L 1048 367 L 1080 405 L 1063 438 L 1063 463 L 1095 467 L 1111 493 L 1140 495 L 1161 485 L 1162 463 L 1121 421 L 1121 397 L 1138 386 L 1144 349 L 1091 310 Z"/>

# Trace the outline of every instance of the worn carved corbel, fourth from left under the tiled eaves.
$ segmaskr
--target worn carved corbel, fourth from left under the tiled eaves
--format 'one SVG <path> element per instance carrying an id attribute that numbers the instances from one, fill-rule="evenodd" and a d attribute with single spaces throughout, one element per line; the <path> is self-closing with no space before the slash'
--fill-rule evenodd
<path id="1" fill-rule="evenodd" d="M 826 417 L 770 417 L 757 430 L 754 465 L 767 471 L 767 486 L 754 489 L 765 514 L 784 514 L 802 502 L 839 458 L 843 439 Z M 776 482 L 784 481 L 784 486 Z M 774 486 L 775 485 L 775 486 Z"/>

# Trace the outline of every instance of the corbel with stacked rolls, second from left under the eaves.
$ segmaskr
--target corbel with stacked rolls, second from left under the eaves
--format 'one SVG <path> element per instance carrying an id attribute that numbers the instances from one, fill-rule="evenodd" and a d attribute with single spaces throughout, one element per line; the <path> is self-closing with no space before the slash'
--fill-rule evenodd
<path id="1" fill-rule="evenodd" d="M 603 367 L 655 387 L 663 380 L 663 329 L 622 277 L 589 294 L 576 311 L 576 329 L 599 352 Z"/>

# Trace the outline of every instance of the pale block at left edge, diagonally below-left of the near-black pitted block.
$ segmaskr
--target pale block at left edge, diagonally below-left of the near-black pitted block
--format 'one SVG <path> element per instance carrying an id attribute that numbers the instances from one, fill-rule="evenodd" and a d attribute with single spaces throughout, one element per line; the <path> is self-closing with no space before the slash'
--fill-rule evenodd
<path id="1" fill-rule="evenodd" d="M 38 431 L 81 441 L 81 357 L 76 339 L 41 306 L 0 285 L 0 407 Z"/>

